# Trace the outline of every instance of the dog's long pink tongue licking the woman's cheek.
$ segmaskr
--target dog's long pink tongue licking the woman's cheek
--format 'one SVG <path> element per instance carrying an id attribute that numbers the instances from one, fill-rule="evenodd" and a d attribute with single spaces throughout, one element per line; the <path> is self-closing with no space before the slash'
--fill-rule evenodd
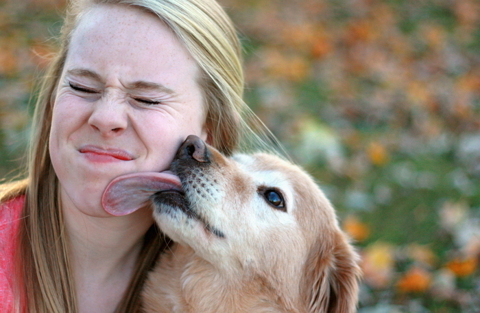
<path id="1" fill-rule="evenodd" d="M 108 184 L 101 205 L 114 216 L 124 216 L 144 207 L 152 194 L 171 189 L 181 190 L 182 185 L 170 172 L 127 174 Z"/>

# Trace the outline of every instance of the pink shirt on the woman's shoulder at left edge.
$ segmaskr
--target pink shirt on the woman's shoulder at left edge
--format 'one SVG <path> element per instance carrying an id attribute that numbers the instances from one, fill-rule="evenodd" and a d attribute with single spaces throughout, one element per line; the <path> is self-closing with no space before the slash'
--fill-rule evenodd
<path id="1" fill-rule="evenodd" d="M 13 262 L 25 196 L 0 205 L 0 313 L 13 310 Z"/>

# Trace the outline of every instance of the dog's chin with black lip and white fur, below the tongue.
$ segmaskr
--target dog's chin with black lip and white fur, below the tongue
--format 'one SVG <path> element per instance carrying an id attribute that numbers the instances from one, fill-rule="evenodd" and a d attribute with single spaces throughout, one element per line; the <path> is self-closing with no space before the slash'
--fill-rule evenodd
<path id="1" fill-rule="evenodd" d="M 183 192 L 165 190 L 152 196 L 154 202 L 154 218 L 172 240 L 176 242 L 190 241 L 187 238 L 200 239 L 202 233 L 209 239 L 217 237 L 224 239 L 224 232 L 213 227 L 204 216 L 200 216 L 189 205 Z M 199 234 L 200 233 L 200 234 Z M 191 244 L 189 244 L 191 246 Z M 193 247 L 192 247 L 193 248 Z"/>

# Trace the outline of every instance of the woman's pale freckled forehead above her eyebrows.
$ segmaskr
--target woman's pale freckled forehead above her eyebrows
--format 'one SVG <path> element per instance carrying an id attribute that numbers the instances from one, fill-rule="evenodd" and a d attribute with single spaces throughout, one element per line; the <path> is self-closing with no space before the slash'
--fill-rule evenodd
<path id="1" fill-rule="evenodd" d="M 163 84 L 165 79 L 196 81 L 198 72 L 191 54 L 163 21 L 124 5 L 99 5 L 82 16 L 71 37 L 65 69 L 75 67 L 100 76 Z"/>

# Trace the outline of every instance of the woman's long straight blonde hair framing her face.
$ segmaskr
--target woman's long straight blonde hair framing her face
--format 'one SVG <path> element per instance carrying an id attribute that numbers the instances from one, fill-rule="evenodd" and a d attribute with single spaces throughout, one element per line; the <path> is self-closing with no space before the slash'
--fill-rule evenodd
<path id="1" fill-rule="evenodd" d="M 0 200 L 26 194 L 24 222 L 19 233 L 17 262 L 28 312 L 76 312 L 75 288 L 71 279 L 68 237 L 63 229 L 58 197 L 58 179 L 49 157 L 49 133 L 56 86 L 64 67 L 71 34 L 85 12 L 100 4 L 131 5 L 156 14 L 178 36 L 202 72 L 200 86 L 206 105 L 208 140 L 224 154 L 231 154 L 245 141 L 256 137 L 245 120 L 255 119 L 242 100 L 241 47 L 235 27 L 215 0 L 82 0 L 73 1 L 60 34 L 60 49 L 40 86 L 33 121 L 27 180 L 0 195 Z M 261 125 L 257 123 L 257 125 Z M 253 139 L 241 139 L 245 134 Z M 139 310 L 139 292 L 145 275 L 165 239 L 152 226 L 136 264 L 130 286 L 117 312 Z M 23 270 L 28 269 L 28 270 Z M 25 299 L 17 299 L 17 304 Z"/>

